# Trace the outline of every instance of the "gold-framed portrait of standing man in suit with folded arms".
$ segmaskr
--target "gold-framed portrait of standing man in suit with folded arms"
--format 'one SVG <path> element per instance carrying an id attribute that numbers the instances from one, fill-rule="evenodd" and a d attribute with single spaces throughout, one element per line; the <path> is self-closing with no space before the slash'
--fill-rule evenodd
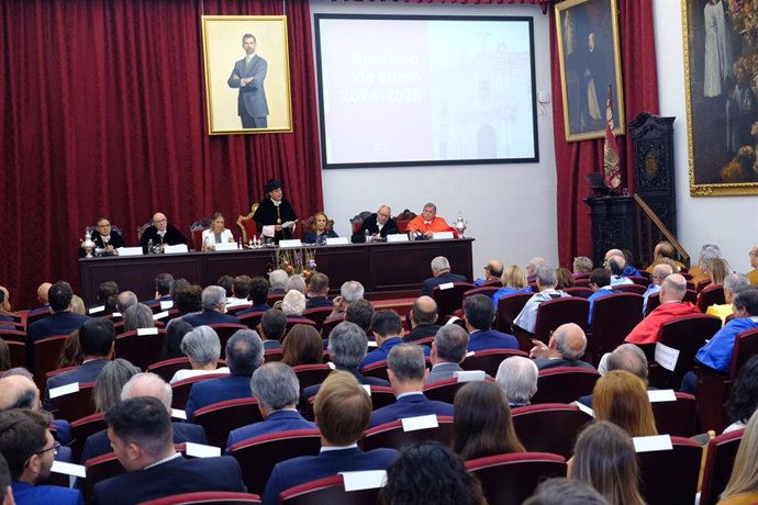
<path id="1" fill-rule="evenodd" d="M 211 135 L 292 131 L 287 18 L 203 15 Z"/>

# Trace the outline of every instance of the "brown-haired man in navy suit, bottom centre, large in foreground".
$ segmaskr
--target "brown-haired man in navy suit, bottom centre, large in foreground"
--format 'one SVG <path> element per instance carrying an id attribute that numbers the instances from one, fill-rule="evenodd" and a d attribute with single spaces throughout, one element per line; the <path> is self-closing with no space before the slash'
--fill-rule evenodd
<path id="1" fill-rule="evenodd" d="M 264 491 L 265 505 L 277 505 L 282 491 L 316 479 L 347 471 L 384 470 L 398 454 L 394 449 L 358 449 L 357 441 L 371 414 L 371 399 L 352 374 L 332 372 L 321 385 L 313 408 L 321 430 L 321 453 L 274 467 Z"/>

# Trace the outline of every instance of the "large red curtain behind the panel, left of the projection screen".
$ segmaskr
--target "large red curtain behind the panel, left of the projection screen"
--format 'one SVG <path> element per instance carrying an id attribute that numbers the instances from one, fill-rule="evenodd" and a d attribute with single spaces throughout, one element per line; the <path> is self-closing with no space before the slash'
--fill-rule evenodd
<path id="1" fill-rule="evenodd" d="M 202 14 L 288 16 L 292 133 L 207 134 Z M 271 177 L 300 216 L 321 210 L 306 1 L 7 0 L 0 33 L 0 284 L 15 306 L 43 281 L 78 284 L 99 215 L 132 245 L 156 211 L 189 235 L 218 210 L 236 235 Z"/>

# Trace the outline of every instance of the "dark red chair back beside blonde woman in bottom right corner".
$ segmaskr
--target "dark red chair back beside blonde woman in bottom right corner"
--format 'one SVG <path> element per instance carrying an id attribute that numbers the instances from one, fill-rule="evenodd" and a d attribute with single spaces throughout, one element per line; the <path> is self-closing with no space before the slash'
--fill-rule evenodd
<path id="1" fill-rule="evenodd" d="M 709 441 L 705 467 L 703 470 L 703 485 L 700 493 L 702 505 L 716 505 L 718 496 L 729 482 L 734 460 L 737 457 L 739 442 L 743 440 L 745 428 L 722 434 Z"/>

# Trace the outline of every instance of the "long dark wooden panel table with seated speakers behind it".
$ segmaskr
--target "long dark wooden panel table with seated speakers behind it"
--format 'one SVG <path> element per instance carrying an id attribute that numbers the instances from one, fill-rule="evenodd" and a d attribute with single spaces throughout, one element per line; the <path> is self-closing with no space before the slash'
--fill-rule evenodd
<path id="1" fill-rule="evenodd" d="M 470 279 L 472 243 L 472 238 L 457 238 L 320 246 L 315 248 L 316 270 L 328 276 L 333 293 L 348 280 L 359 281 L 368 293 L 417 292 L 422 281 L 432 276 L 430 262 L 436 256 L 445 256 L 455 273 Z M 163 272 L 201 285 L 213 284 L 222 276 L 263 276 L 276 265 L 275 250 L 81 258 L 81 296 L 85 303 L 94 303 L 100 283 L 115 281 L 121 291 L 134 291 L 140 300 L 151 300 L 155 277 Z"/>

